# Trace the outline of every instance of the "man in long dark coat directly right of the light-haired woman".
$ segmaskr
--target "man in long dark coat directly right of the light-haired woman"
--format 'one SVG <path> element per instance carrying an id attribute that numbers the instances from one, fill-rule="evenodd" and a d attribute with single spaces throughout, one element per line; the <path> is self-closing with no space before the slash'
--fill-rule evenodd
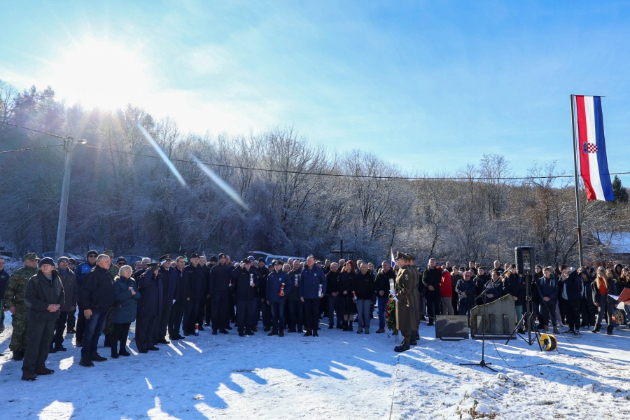
<path id="1" fill-rule="evenodd" d="M 140 353 L 159 350 L 154 341 L 155 330 L 160 325 L 164 295 L 162 276 L 159 273 L 160 262 L 151 262 L 138 284 L 140 300 L 136 318 L 136 346 Z"/>

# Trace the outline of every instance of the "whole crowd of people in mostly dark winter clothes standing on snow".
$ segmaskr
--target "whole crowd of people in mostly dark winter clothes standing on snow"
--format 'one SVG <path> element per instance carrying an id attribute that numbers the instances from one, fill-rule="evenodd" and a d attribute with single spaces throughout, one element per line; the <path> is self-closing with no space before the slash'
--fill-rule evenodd
<path id="1" fill-rule="evenodd" d="M 9 349 L 14 360 L 23 360 L 22 379 L 27 381 L 54 372 L 45 360 L 49 353 L 66 351 L 64 341 L 71 334 L 81 349 L 79 365 L 92 367 L 107 360 L 97 351 L 102 333 L 111 358 L 131 356 L 127 342 L 132 323 L 139 353 L 158 351 L 159 344 L 197 335 L 204 327 L 218 335 L 230 333 L 235 325 L 238 335 L 246 337 L 255 335 L 262 323 L 268 336 L 287 332 L 318 337 L 320 325 L 325 325 L 320 320 L 327 317 L 328 329 L 354 332 L 356 323 L 356 333 L 370 334 L 375 308 L 375 332 L 381 334 L 390 299 L 395 301 L 396 329 L 402 333 L 395 351 L 416 344 L 422 321 L 434 325 L 439 314 L 470 319 L 472 307 L 505 295 L 514 298 L 514 327 L 521 333 L 524 307 L 531 305 L 541 330 L 548 331 L 550 323 L 554 332 L 561 325 L 568 325 L 566 333 L 580 334 L 580 328 L 599 332 L 605 322 L 612 334 L 619 316 L 613 319 L 618 302 L 610 295 L 622 293 L 629 283 L 630 268 L 619 264 L 596 269 L 537 265 L 531 276 L 522 276 L 515 264 L 502 266 L 499 261 L 486 271 L 474 261 L 458 267 L 438 265 L 431 258 L 420 269 L 412 255 L 402 252 L 377 267 L 362 260 L 322 262 L 313 255 L 267 266 L 263 258 L 233 262 L 224 253 L 208 259 L 197 253 L 188 258 L 162 255 L 157 262 L 144 258 L 131 267 L 110 250 L 88 251 L 87 260 L 77 265 L 72 258 L 55 262 L 28 253 L 24 267 L 10 276 L 0 258 L 2 314 L 12 314 Z M 625 311 L 630 314 L 629 305 Z M 3 328 L 3 315 L 0 321 Z"/>

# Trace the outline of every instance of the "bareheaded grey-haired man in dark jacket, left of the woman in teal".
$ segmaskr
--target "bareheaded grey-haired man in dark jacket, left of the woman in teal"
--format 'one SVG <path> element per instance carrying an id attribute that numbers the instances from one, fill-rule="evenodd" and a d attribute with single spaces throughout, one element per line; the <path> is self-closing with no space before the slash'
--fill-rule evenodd
<path id="1" fill-rule="evenodd" d="M 116 301 L 110 265 L 109 256 L 99 255 L 97 265 L 85 275 L 83 286 L 79 290 L 79 307 L 83 308 L 85 316 L 85 335 L 79 365 L 84 367 L 94 366 L 92 362 L 107 360 L 97 353 L 97 346 L 105 326 L 105 318 Z"/>

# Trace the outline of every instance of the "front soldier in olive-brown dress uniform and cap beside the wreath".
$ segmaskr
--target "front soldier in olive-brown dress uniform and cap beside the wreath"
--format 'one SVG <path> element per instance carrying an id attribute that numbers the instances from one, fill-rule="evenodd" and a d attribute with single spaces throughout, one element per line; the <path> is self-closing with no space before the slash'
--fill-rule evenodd
<path id="1" fill-rule="evenodd" d="M 412 296 L 416 275 L 413 269 L 407 266 L 411 259 L 412 257 L 406 253 L 398 252 L 396 255 L 399 267 L 395 280 L 396 328 L 402 334 L 402 343 L 400 346 L 395 346 L 394 351 L 399 353 L 409 350 L 412 333 L 415 334 L 414 330 L 417 328 L 413 309 L 409 307 L 409 305 L 413 306 Z"/>

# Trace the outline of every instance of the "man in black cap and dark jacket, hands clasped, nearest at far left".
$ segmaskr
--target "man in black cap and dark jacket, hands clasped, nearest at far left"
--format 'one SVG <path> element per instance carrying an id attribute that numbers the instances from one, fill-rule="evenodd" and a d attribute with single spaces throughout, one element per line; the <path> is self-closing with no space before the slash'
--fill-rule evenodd
<path id="1" fill-rule="evenodd" d="M 42 258 L 39 271 L 27 281 L 24 301 L 29 307 L 29 338 L 22 365 L 25 381 L 35 380 L 38 374 L 55 372 L 45 365 L 59 308 L 64 305 L 64 286 L 54 268 L 55 260 Z"/>

